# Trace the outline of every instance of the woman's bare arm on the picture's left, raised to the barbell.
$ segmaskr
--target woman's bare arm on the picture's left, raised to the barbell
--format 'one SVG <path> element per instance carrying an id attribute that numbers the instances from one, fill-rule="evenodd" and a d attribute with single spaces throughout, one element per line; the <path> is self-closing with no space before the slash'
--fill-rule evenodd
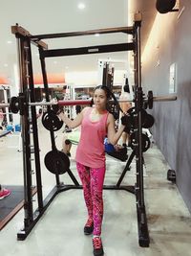
<path id="1" fill-rule="evenodd" d="M 58 114 L 58 116 L 69 128 L 76 128 L 81 125 L 84 112 L 86 111 L 87 108 L 88 106 L 84 107 L 83 110 L 74 118 L 74 120 L 71 120 L 70 118 L 68 118 L 68 116 L 63 112 Z"/>

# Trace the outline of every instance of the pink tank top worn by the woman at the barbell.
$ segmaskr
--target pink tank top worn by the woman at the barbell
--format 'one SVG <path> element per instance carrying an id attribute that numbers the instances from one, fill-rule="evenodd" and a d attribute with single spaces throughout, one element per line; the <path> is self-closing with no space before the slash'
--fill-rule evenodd
<path id="1" fill-rule="evenodd" d="M 93 107 L 90 107 L 84 113 L 75 160 L 91 168 L 102 168 L 105 166 L 104 138 L 109 112 L 105 110 L 101 118 L 93 122 L 90 119 L 92 110 Z"/>

